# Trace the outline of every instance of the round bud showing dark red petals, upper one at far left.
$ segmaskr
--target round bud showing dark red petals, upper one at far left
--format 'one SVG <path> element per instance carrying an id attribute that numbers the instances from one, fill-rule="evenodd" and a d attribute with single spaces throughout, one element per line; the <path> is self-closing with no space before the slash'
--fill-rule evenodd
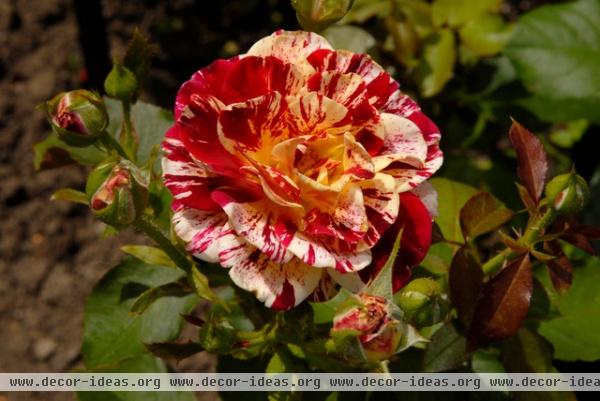
<path id="1" fill-rule="evenodd" d="M 61 93 L 46 102 L 50 124 L 71 146 L 88 146 L 106 129 L 108 113 L 100 96 L 79 89 Z"/>

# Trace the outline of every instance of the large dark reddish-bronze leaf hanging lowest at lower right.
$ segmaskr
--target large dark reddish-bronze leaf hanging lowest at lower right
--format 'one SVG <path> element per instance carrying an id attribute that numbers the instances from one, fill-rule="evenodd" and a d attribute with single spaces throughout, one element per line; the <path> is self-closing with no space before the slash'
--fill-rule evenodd
<path id="1" fill-rule="evenodd" d="M 483 287 L 469 330 L 469 349 L 515 334 L 527 315 L 532 291 L 531 261 L 523 255 Z"/>

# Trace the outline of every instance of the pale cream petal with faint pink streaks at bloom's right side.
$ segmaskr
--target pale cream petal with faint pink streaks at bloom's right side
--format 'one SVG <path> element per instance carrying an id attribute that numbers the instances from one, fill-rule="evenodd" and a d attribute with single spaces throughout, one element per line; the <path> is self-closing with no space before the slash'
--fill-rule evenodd
<path id="1" fill-rule="evenodd" d="M 375 171 L 382 171 L 394 162 L 421 168 L 427 158 L 427 143 L 419 127 L 395 114 L 381 114 L 381 129 L 385 133 L 383 147 L 373 157 Z"/>

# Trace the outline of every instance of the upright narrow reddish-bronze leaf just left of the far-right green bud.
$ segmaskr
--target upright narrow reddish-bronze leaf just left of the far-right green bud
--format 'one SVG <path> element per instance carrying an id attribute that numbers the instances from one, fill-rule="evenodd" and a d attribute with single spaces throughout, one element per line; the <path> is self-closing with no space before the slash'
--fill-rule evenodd
<path id="1" fill-rule="evenodd" d="M 508 135 L 517 151 L 517 175 L 537 204 L 542 196 L 548 172 L 544 146 L 535 135 L 514 120 Z"/>

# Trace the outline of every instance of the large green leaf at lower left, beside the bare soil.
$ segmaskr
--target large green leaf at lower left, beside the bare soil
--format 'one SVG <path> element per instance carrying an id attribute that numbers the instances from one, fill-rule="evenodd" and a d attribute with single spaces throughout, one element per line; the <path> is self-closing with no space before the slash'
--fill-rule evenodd
<path id="1" fill-rule="evenodd" d="M 88 368 L 115 364 L 146 353 L 145 343 L 174 340 L 183 319 L 197 303 L 195 295 L 164 297 L 141 315 L 132 315 L 144 291 L 180 279 L 181 273 L 125 259 L 96 285 L 85 306 L 82 354 Z"/>

